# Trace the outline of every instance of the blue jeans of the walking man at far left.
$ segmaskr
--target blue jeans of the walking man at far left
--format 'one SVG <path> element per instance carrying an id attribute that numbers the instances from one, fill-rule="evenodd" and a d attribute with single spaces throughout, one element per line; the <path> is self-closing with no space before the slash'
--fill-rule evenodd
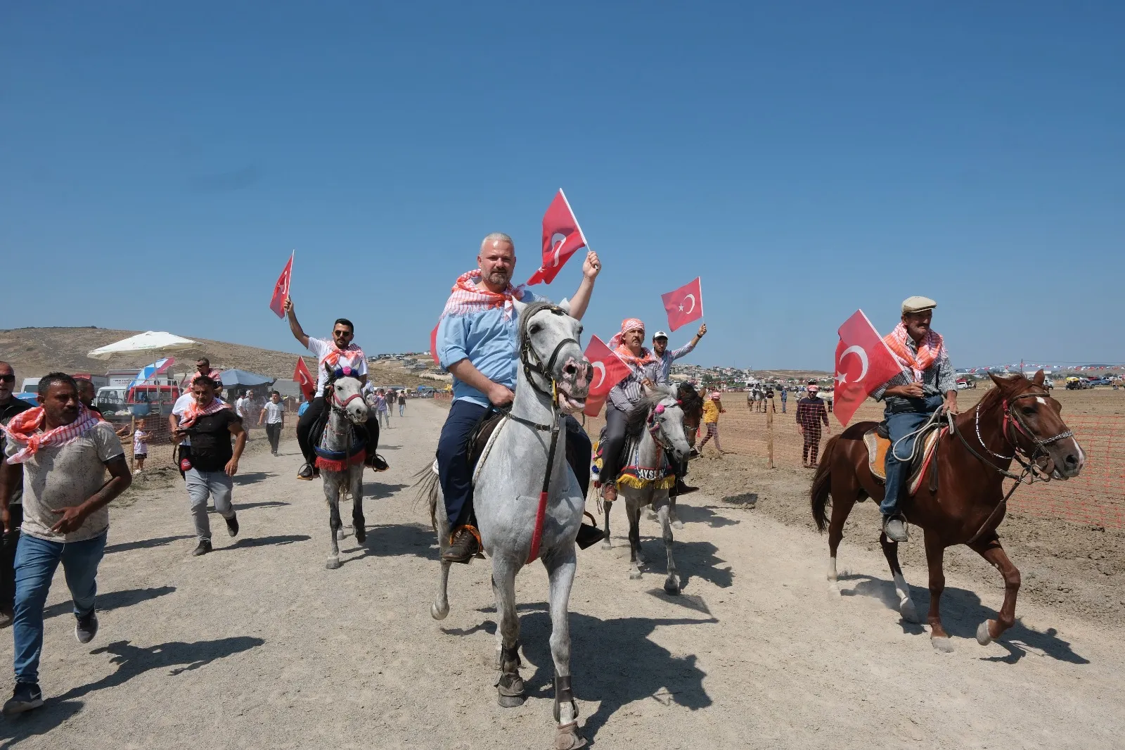
<path id="1" fill-rule="evenodd" d="M 58 563 L 63 564 L 66 588 L 74 602 L 74 616 L 93 611 L 98 593 L 98 563 L 106 550 L 106 535 L 84 542 L 48 542 L 28 534 L 16 550 L 16 617 L 11 624 L 16 641 L 17 682 L 39 681 L 39 653 L 43 651 L 43 607 L 51 591 Z"/>

